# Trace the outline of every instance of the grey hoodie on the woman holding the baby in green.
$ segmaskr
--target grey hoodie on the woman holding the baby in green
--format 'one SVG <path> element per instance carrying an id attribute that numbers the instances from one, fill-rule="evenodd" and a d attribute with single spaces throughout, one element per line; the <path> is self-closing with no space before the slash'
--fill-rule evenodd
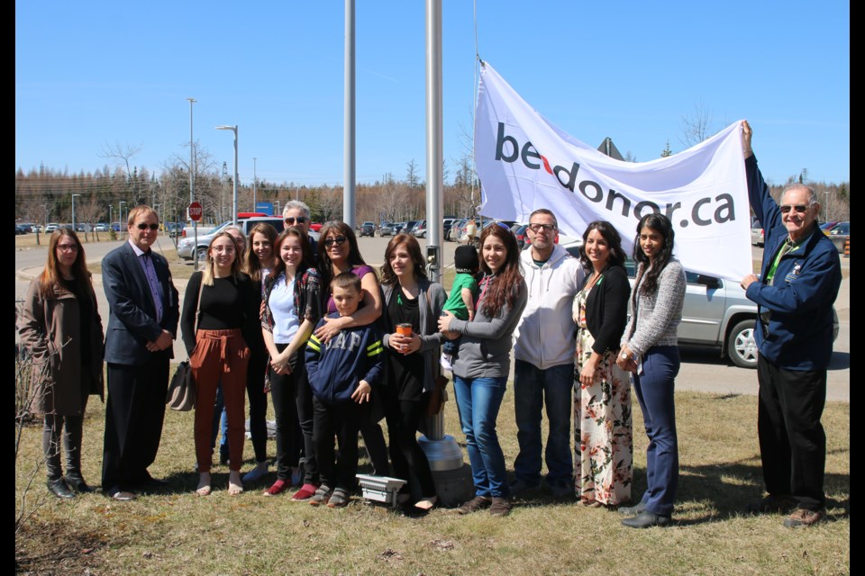
<path id="1" fill-rule="evenodd" d="M 496 281 L 495 276 L 491 281 Z M 525 281 L 521 280 L 513 289 L 517 292 L 513 308 L 505 304 L 495 317 L 489 318 L 484 314 L 484 298 L 481 298 L 474 320 L 451 320 L 448 328 L 462 334 L 460 351 L 453 362 L 454 375 L 467 380 L 507 377 L 511 365 L 512 336 L 528 298 Z"/>

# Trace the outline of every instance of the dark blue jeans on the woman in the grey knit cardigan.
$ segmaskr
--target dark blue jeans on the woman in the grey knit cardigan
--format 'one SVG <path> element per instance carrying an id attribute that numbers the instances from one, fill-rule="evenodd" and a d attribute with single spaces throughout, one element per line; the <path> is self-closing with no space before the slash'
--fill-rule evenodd
<path id="1" fill-rule="evenodd" d="M 678 347 L 656 346 L 642 355 L 642 374 L 633 374 L 633 392 L 640 401 L 649 446 L 646 482 L 642 495 L 646 509 L 670 516 L 678 488 L 678 436 L 676 433 L 676 375 Z"/>

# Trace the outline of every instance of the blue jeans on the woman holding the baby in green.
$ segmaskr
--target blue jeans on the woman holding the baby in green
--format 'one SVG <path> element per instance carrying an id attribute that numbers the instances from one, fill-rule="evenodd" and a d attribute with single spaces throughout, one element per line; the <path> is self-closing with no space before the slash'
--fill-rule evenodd
<path id="1" fill-rule="evenodd" d="M 496 435 L 496 419 L 506 385 L 506 377 L 463 380 L 455 375 L 453 378 L 453 392 L 457 395 L 477 496 L 507 498 L 510 495 L 505 455 Z"/>

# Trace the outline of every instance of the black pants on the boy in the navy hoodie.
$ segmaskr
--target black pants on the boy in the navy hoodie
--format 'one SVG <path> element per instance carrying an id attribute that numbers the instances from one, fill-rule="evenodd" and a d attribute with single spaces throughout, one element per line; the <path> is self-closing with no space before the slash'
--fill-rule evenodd
<path id="1" fill-rule="evenodd" d="M 313 442 L 322 484 L 353 491 L 357 486 L 358 430 L 361 419 L 369 420 L 369 409 L 353 401 L 328 404 L 314 397 L 313 413 Z M 334 436 L 340 443 L 335 456 Z"/>

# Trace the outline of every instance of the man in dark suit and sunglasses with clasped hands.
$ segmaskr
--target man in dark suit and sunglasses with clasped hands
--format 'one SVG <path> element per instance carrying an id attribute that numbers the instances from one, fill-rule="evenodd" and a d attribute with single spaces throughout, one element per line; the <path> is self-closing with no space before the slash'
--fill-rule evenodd
<path id="1" fill-rule="evenodd" d="M 114 500 L 132 500 L 133 488 L 160 483 L 147 467 L 156 460 L 162 436 L 179 318 L 168 261 L 150 249 L 159 234 L 159 216 L 149 206 L 137 206 L 127 226 L 129 241 L 102 261 L 110 307 L 102 487 Z"/>

